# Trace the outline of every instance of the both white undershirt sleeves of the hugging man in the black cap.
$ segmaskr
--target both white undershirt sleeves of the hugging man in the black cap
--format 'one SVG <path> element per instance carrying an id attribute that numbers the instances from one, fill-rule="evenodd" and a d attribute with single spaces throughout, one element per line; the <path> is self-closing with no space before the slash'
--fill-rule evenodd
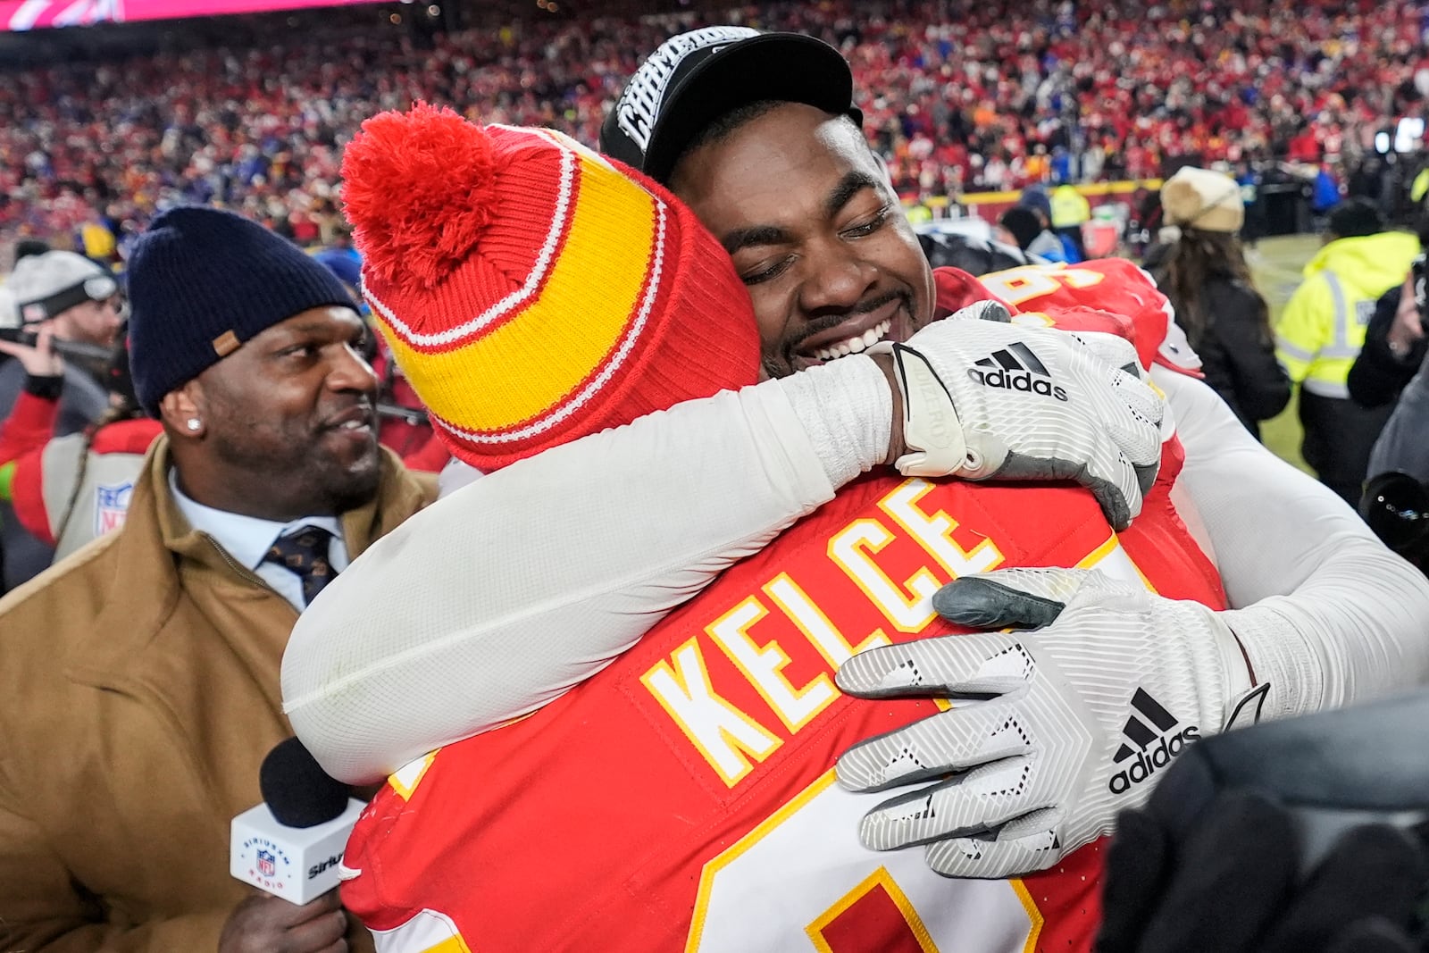
<path id="1" fill-rule="evenodd" d="M 859 414 L 863 426 L 890 414 L 870 390 L 872 364 L 855 374 L 853 360 L 823 369 L 847 364 L 840 373 L 862 387 L 852 394 L 836 374 L 809 371 L 692 401 L 484 477 L 409 520 L 300 619 L 283 663 L 299 736 L 336 777 L 369 783 L 599 672 L 829 500 L 836 479 L 882 459 L 876 441 L 830 443 Z M 1156 379 L 1187 451 L 1180 484 L 1232 604 L 1259 603 L 1228 622 L 1272 682 L 1268 714 L 1425 682 L 1429 582 L 1208 387 Z"/>

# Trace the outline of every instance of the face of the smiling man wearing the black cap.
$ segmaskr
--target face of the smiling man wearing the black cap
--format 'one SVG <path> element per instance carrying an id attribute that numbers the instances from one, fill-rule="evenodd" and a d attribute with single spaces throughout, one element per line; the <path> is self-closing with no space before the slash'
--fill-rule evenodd
<path id="1" fill-rule="evenodd" d="M 785 103 L 692 151 L 670 187 L 735 259 L 772 377 L 930 320 L 927 259 L 849 120 Z"/>

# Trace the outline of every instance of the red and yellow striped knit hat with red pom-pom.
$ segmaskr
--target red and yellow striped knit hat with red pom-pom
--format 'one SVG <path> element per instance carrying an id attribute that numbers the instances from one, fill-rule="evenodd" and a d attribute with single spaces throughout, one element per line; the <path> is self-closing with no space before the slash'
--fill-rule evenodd
<path id="1" fill-rule="evenodd" d="M 729 256 L 660 186 L 553 130 L 419 103 L 343 157 L 363 297 L 480 470 L 757 380 Z"/>

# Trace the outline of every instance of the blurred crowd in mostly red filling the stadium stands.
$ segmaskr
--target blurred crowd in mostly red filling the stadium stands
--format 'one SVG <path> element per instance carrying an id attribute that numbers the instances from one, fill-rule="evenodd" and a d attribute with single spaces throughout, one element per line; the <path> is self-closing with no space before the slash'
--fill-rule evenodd
<path id="1" fill-rule="evenodd" d="M 506 21 L 430 44 L 333 26 L 24 67 L 0 83 L 0 230 L 110 257 L 156 211 L 197 201 L 329 244 L 342 147 L 364 117 L 420 99 L 594 143 L 637 51 L 710 16 L 837 46 L 906 199 L 1155 177 L 1186 156 L 1323 163 L 1343 183 L 1429 93 L 1425 4 L 1089 7 L 780 3 Z"/>

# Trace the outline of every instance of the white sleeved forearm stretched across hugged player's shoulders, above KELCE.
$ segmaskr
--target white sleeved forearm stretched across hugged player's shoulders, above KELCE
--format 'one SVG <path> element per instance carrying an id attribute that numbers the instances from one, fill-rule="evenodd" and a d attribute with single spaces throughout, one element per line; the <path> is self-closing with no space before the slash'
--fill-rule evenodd
<path id="1" fill-rule="evenodd" d="M 284 712 L 372 783 L 559 697 L 887 454 L 883 371 L 849 357 L 489 474 L 384 536 L 299 619 Z"/>

